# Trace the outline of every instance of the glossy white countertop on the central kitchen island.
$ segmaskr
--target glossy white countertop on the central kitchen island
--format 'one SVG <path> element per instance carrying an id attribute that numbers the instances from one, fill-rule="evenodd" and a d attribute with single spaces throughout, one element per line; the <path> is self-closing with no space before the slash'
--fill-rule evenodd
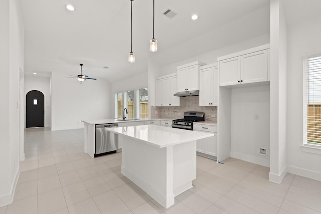
<path id="1" fill-rule="evenodd" d="M 214 134 L 158 125 L 113 127 L 107 130 L 134 138 L 144 143 L 164 148 L 193 140 L 212 137 Z"/>

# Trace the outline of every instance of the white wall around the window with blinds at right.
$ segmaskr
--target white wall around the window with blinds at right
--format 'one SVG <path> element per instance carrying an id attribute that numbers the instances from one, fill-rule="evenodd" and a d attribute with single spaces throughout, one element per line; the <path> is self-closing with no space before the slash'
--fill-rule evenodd
<path id="1" fill-rule="evenodd" d="M 288 28 L 287 170 L 321 180 L 320 154 L 303 152 L 303 56 L 321 53 L 321 18 Z"/>

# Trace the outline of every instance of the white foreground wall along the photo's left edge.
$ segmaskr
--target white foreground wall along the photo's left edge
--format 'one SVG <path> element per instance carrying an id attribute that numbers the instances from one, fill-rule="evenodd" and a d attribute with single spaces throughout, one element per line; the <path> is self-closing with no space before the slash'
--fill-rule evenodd
<path id="1" fill-rule="evenodd" d="M 0 206 L 3 206 L 12 202 L 19 178 L 19 73 L 24 65 L 24 27 L 17 0 L 1 2 L 0 26 Z"/>

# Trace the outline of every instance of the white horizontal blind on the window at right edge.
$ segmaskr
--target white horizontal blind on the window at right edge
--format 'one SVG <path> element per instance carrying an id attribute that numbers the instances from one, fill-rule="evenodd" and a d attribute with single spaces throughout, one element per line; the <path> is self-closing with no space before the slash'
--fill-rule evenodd
<path id="1" fill-rule="evenodd" d="M 304 59 L 303 143 L 321 145 L 321 54 Z"/>

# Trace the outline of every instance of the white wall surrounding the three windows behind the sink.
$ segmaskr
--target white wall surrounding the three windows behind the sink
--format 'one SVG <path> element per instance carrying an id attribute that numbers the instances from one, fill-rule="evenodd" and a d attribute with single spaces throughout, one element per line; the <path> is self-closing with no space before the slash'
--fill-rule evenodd
<path id="1" fill-rule="evenodd" d="M 141 73 L 139 75 L 136 75 L 131 78 L 124 79 L 119 82 L 112 83 L 111 85 L 111 102 L 110 102 L 110 114 L 112 115 L 110 118 L 114 118 L 114 112 L 115 112 L 115 93 L 117 92 L 124 92 L 124 91 L 129 91 L 129 90 L 136 90 L 140 88 L 145 88 L 147 87 L 147 72 Z M 148 88 L 148 99 L 150 98 L 149 96 L 149 88 Z M 149 100 L 148 100 L 149 103 Z M 112 105 L 111 105 L 112 104 Z"/>

